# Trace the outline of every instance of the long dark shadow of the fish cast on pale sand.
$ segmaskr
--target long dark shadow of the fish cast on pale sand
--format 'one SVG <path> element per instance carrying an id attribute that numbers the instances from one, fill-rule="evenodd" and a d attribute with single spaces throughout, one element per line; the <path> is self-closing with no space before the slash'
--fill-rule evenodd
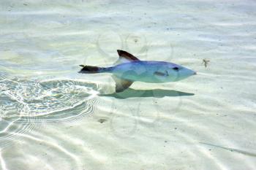
<path id="1" fill-rule="evenodd" d="M 100 96 L 111 96 L 114 98 L 136 98 L 136 97 L 156 97 L 163 98 L 165 96 L 194 96 L 194 93 L 185 93 L 182 91 L 176 90 L 163 90 L 163 89 L 154 89 L 154 90 L 135 90 L 128 88 L 121 93 L 111 93 L 111 94 L 101 94 Z"/>

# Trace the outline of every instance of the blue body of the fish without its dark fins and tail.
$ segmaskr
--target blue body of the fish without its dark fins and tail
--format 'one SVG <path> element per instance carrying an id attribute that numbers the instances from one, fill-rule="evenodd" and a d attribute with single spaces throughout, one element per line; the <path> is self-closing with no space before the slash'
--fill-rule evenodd
<path id="1" fill-rule="evenodd" d="M 152 83 L 175 82 L 195 74 L 190 69 L 165 61 L 131 61 L 102 69 L 101 72 L 110 72 L 116 77 L 133 82 Z"/>

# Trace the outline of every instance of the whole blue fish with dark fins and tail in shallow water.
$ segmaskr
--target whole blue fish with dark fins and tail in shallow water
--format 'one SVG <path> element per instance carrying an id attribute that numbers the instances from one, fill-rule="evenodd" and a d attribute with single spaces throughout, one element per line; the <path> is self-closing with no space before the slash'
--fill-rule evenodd
<path id="1" fill-rule="evenodd" d="M 119 58 L 116 63 L 114 63 L 114 66 L 99 67 L 80 65 L 83 68 L 78 73 L 111 73 L 113 80 L 116 82 L 116 93 L 126 90 L 133 82 L 176 82 L 197 74 L 192 69 L 187 69 L 176 63 L 166 61 L 141 61 L 124 50 L 117 50 L 117 53 Z"/>

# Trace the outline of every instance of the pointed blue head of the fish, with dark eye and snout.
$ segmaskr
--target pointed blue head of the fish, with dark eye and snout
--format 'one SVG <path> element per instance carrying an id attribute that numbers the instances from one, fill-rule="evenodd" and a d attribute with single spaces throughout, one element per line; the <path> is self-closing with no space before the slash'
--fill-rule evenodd
<path id="1" fill-rule="evenodd" d="M 187 77 L 197 74 L 192 69 L 187 69 L 184 66 L 179 66 L 178 64 L 170 64 L 168 66 L 168 74 L 172 81 L 184 80 Z"/>

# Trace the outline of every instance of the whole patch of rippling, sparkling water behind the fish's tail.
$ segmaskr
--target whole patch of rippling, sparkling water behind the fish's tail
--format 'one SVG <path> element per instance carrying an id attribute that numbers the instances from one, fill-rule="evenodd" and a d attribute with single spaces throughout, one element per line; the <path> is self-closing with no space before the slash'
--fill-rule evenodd
<path id="1" fill-rule="evenodd" d="M 41 123 L 80 119 L 97 112 L 98 86 L 72 80 L 0 80 L 0 143 L 5 145 Z"/>

